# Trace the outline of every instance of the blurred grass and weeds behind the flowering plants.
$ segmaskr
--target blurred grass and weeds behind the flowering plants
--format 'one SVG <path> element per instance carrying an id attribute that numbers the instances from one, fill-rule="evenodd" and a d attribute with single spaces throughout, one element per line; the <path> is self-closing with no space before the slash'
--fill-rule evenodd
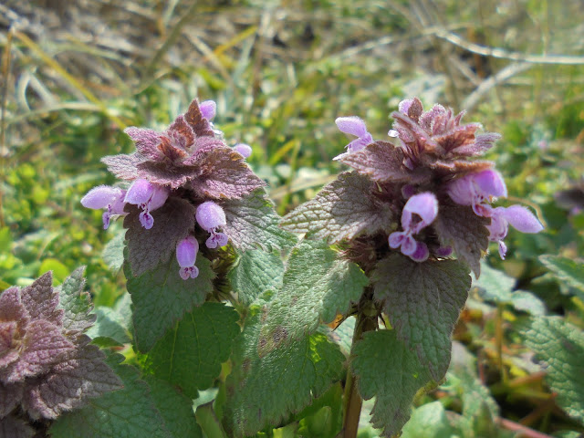
<path id="1" fill-rule="evenodd" d="M 511 231 L 506 262 L 492 248 L 488 263 L 584 327 L 582 290 L 538 259 L 584 248 L 579 1 L 4 0 L 0 48 L 2 288 L 86 265 L 97 305 L 121 296 L 123 276 L 101 256 L 120 223 L 104 232 L 79 199 L 114 182 L 99 158 L 132 150 L 126 126 L 162 129 L 191 99 L 214 99 L 215 125 L 253 147 L 248 162 L 285 214 L 341 170 L 331 158 L 348 141 L 335 118 L 359 115 L 384 139 L 398 102 L 418 96 L 504 135 L 487 157 L 506 177 L 502 204 L 526 203 L 546 230 Z M 483 298 L 455 337 L 501 417 L 581 432 L 542 375 L 517 365 L 528 361 L 514 337 L 521 309 Z"/>

